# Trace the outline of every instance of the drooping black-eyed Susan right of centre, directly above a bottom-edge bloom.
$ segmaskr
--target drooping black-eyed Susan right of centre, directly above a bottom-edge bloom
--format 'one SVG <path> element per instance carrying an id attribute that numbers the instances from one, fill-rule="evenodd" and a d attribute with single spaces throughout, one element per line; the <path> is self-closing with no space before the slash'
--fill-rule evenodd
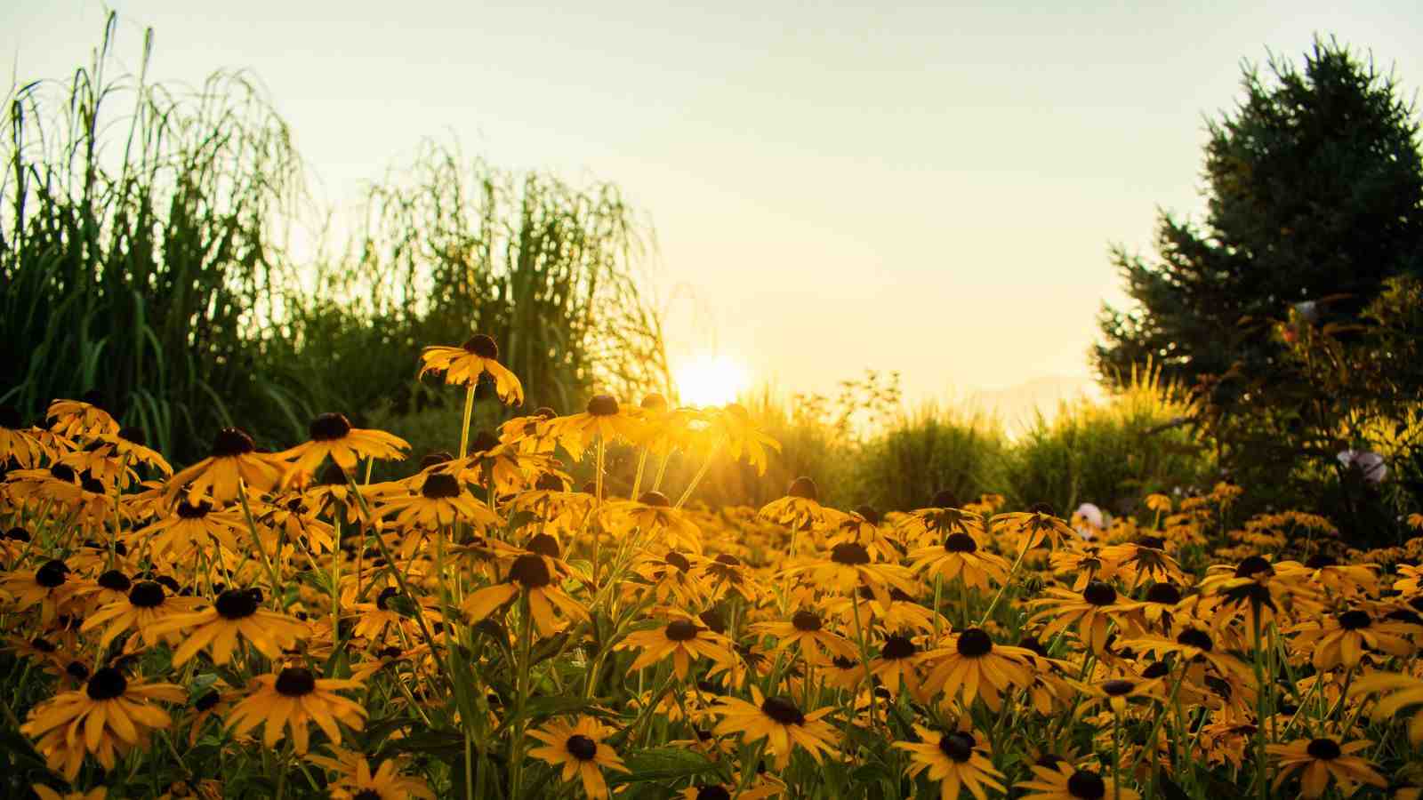
<path id="1" fill-rule="evenodd" d="M 1032 651 L 995 645 L 982 628 L 969 628 L 953 636 L 948 646 L 929 651 L 929 675 L 924 680 L 926 692 L 959 695 L 963 706 L 975 698 L 993 710 L 1002 706 L 1002 695 L 1010 688 L 1026 688 L 1033 680 Z"/>

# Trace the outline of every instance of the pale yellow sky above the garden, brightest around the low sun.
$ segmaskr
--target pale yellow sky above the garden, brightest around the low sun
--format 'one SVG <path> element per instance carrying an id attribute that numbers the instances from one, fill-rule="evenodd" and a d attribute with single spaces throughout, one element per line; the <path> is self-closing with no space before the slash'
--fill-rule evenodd
<path id="1" fill-rule="evenodd" d="M 1332 33 L 1423 85 L 1416 0 L 112 6 L 127 64 L 157 28 L 158 80 L 255 73 L 332 204 L 427 137 L 619 184 L 656 228 L 673 356 L 783 390 L 1086 376 L 1121 296 L 1107 248 L 1200 208 L 1202 120 L 1242 58 Z M 10 0 L 0 56 L 64 77 L 102 9 Z"/>

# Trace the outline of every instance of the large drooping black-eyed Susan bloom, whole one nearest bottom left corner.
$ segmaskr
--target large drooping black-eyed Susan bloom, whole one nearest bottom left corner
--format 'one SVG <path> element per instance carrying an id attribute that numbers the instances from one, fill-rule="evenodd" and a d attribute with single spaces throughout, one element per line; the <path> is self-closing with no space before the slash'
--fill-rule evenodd
<path id="1" fill-rule="evenodd" d="M 129 680 L 112 666 L 94 670 L 83 689 L 61 692 L 30 710 L 20 733 L 38 739 L 36 750 L 50 769 L 74 780 L 85 753 L 104 769 L 172 719 L 152 700 L 181 703 L 188 693 L 172 683 Z"/>

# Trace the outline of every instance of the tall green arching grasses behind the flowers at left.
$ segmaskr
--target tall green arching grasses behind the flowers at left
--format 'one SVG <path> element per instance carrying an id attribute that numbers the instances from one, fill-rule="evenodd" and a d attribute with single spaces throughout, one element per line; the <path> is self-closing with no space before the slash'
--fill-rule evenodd
<path id="1" fill-rule="evenodd" d="M 319 212 L 266 97 L 240 74 L 114 77 L 114 26 L 87 68 L 6 101 L 0 403 L 88 396 L 182 458 L 235 420 L 272 444 L 320 409 L 423 407 L 420 343 L 471 317 L 539 403 L 666 387 L 645 225 L 615 186 L 428 145 L 343 249 L 299 262 L 290 228 Z"/>

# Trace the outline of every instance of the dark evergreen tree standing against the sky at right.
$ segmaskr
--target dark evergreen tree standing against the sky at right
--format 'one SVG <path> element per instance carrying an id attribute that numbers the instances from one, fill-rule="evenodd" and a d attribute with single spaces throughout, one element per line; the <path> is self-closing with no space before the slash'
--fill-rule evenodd
<path id="1" fill-rule="evenodd" d="M 1261 320 L 1301 303 L 1352 320 L 1423 265 L 1419 124 L 1393 77 L 1316 38 L 1302 70 L 1271 58 L 1242 83 L 1244 101 L 1210 122 L 1204 222 L 1163 214 L 1153 259 L 1113 249 L 1137 307 L 1103 306 L 1091 356 L 1107 384 L 1150 362 L 1229 406 L 1239 381 L 1215 379 L 1279 360 Z"/>

